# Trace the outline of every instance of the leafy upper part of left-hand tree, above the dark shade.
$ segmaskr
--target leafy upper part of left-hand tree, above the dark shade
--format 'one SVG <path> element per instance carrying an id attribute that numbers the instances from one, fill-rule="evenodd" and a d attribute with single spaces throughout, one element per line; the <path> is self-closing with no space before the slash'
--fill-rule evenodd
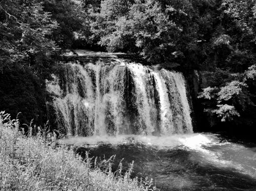
<path id="1" fill-rule="evenodd" d="M 19 64 L 42 73 L 58 52 L 51 39 L 58 23 L 35 0 L 1 0 L 0 12 L 0 69 Z"/>

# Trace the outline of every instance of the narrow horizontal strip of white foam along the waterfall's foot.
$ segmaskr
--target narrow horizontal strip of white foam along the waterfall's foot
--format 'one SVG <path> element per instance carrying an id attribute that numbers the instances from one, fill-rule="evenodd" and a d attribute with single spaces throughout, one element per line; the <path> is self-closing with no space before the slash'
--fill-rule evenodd
<path id="1" fill-rule="evenodd" d="M 67 139 L 62 139 L 63 144 L 83 146 L 83 145 L 98 145 L 104 142 L 105 144 L 120 145 L 140 143 L 146 146 L 151 146 L 157 149 L 173 149 L 177 146 L 187 147 L 189 149 L 204 151 L 202 146 L 210 144 L 218 144 L 218 138 L 212 135 L 201 133 L 194 134 L 175 134 L 171 136 L 151 136 L 151 135 L 117 135 L 117 136 L 90 136 L 79 137 L 70 136 Z"/>

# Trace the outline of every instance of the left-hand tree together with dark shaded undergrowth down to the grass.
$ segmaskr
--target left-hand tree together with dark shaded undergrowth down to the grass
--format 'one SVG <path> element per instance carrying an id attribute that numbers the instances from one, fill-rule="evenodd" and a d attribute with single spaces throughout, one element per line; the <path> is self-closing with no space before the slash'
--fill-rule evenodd
<path id="1" fill-rule="evenodd" d="M 0 0 L 0 110 L 46 123 L 45 79 L 58 58 L 58 23 L 35 0 Z"/>

